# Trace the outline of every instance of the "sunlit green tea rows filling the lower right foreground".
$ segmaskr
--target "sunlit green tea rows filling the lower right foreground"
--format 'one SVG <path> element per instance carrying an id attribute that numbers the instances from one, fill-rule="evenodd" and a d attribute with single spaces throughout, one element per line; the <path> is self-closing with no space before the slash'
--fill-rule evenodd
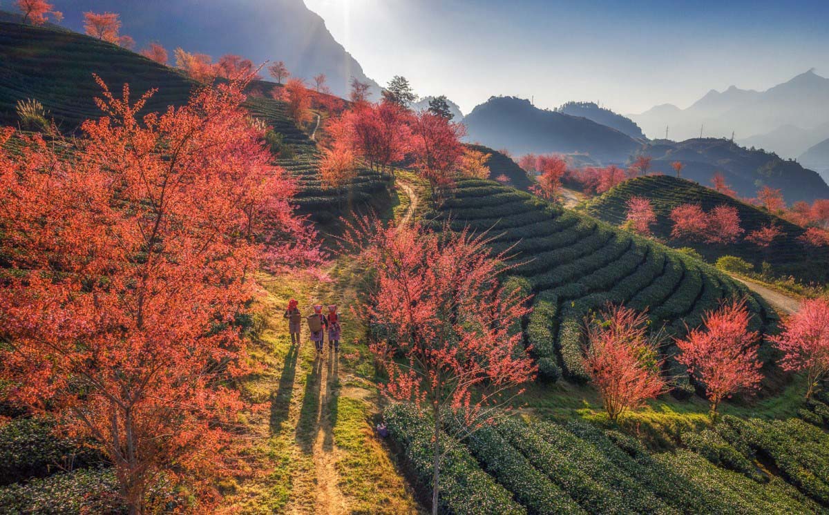
<path id="1" fill-rule="evenodd" d="M 385 420 L 415 488 L 428 493 L 432 422 L 401 405 L 386 409 Z M 827 513 L 829 436 L 821 428 L 724 416 L 676 436 L 674 452 L 652 453 L 580 420 L 506 417 L 465 440 L 444 435 L 440 513 Z"/>

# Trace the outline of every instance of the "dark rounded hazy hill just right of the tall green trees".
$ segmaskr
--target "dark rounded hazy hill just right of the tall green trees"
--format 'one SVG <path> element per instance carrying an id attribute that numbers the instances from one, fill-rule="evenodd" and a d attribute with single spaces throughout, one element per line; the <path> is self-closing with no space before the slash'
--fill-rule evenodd
<path id="1" fill-rule="evenodd" d="M 539 109 L 529 100 L 491 97 L 463 119 L 467 139 L 487 147 L 528 152 L 587 154 L 602 163 L 623 163 L 641 144 L 587 118 Z"/>

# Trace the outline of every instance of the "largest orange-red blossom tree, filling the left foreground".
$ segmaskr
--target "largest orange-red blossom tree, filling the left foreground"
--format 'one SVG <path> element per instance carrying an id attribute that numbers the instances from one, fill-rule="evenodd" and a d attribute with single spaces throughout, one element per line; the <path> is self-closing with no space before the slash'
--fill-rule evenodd
<path id="1" fill-rule="evenodd" d="M 209 511 L 213 479 L 244 466 L 236 320 L 260 266 L 318 258 L 313 231 L 241 86 L 138 119 L 148 95 L 132 103 L 127 86 L 118 99 L 99 84 L 104 116 L 62 142 L 72 152 L 38 136 L 20 152 L 0 145 L 0 380 L 14 402 L 95 441 L 129 513 L 161 475 Z"/>

